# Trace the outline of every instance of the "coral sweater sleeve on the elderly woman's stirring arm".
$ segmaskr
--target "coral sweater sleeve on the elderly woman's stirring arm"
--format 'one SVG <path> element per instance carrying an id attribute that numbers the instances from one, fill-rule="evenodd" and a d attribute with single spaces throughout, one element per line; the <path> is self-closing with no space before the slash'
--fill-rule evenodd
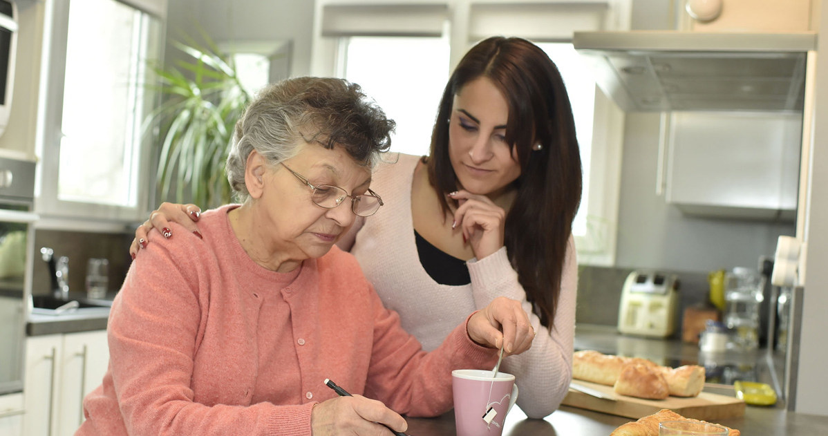
<path id="1" fill-rule="evenodd" d="M 425 352 L 402 329 L 396 312 L 383 308 L 378 298 L 373 299 L 372 309 L 376 314 L 374 348 L 365 393 L 399 414 L 444 414 L 453 405 L 451 371 L 491 368 L 497 360 L 496 350 L 469 338 L 466 328 L 471 314 L 440 347 Z"/>

